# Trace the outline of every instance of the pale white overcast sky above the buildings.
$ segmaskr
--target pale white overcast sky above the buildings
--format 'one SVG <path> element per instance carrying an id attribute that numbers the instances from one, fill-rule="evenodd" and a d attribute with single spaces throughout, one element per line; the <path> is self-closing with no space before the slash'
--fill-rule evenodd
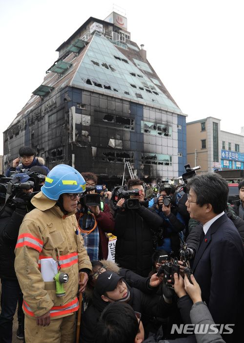
<path id="1" fill-rule="evenodd" d="M 8 0 L 0 1 L 0 155 L 1 132 L 41 85 L 55 50 L 89 17 L 105 19 L 113 3 L 186 121 L 213 116 L 221 130 L 241 132 L 243 0 Z"/>

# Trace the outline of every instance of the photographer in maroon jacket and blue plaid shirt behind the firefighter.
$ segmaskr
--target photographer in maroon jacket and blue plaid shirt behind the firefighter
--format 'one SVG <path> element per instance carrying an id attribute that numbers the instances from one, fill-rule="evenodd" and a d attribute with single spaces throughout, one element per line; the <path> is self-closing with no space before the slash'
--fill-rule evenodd
<path id="1" fill-rule="evenodd" d="M 90 187 L 89 194 L 95 194 L 95 187 L 98 178 L 95 174 L 81 173 L 85 180 L 86 187 Z M 89 195 L 87 194 L 87 195 Z M 84 247 L 91 261 L 107 259 L 108 256 L 108 236 L 106 232 L 113 232 L 114 218 L 110 213 L 106 203 L 100 200 L 97 206 L 77 206 L 77 221 L 84 239 Z M 85 220 L 85 223 L 83 221 Z"/>

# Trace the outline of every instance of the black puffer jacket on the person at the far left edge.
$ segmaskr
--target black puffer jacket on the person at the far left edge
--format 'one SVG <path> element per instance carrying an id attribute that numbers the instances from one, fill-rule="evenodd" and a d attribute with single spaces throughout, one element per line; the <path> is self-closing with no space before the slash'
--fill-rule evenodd
<path id="1" fill-rule="evenodd" d="M 24 214 L 13 208 L 5 207 L 0 216 L 0 278 L 17 280 L 14 262 L 15 246 Z"/>

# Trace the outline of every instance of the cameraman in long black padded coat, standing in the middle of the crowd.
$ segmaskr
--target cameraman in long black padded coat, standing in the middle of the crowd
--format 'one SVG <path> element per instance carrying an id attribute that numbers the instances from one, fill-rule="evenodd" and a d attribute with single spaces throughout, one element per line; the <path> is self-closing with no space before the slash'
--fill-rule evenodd
<path id="1" fill-rule="evenodd" d="M 141 191 L 140 195 L 131 198 L 139 200 L 139 208 L 123 208 L 125 199 L 117 203 L 114 235 L 117 236 L 115 261 L 120 267 L 148 276 L 151 271 L 151 256 L 153 254 L 151 228 L 158 229 L 163 225 L 163 219 L 157 213 L 151 212 L 144 202 L 143 182 L 139 179 L 128 180 L 128 189 Z"/>

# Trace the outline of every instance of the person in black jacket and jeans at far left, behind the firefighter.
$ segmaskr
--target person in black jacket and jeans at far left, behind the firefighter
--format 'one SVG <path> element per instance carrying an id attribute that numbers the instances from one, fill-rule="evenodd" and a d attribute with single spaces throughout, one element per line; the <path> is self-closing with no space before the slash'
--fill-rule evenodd
<path id="1" fill-rule="evenodd" d="M 17 179 L 18 178 L 18 179 Z M 27 174 L 20 173 L 11 181 L 18 181 L 17 184 L 28 183 L 33 181 Z M 31 184 L 29 184 L 31 186 Z M 31 205 L 33 188 L 17 189 L 14 188 L 11 196 L 6 203 L 3 213 L 0 216 L 0 278 L 1 278 L 1 314 L 0 314 L 0 342 L 12 342 L 13 317 L 16 311 L 20 285 L 15 274 L 14 262 L 17 238 L 19 235 L 20 225 L 27 212 L 34 206 Z M 1 193 L 2 194 L 2 193 Z M 0 198 L 4 203 L 5 198 Z M 2 208 L 2 206 L 1 206 Z M 21 315 L 22 304 L 19 304 L 18 310 L 19 328 L 17 338 L 23 340 L 23 323 Z"/>

